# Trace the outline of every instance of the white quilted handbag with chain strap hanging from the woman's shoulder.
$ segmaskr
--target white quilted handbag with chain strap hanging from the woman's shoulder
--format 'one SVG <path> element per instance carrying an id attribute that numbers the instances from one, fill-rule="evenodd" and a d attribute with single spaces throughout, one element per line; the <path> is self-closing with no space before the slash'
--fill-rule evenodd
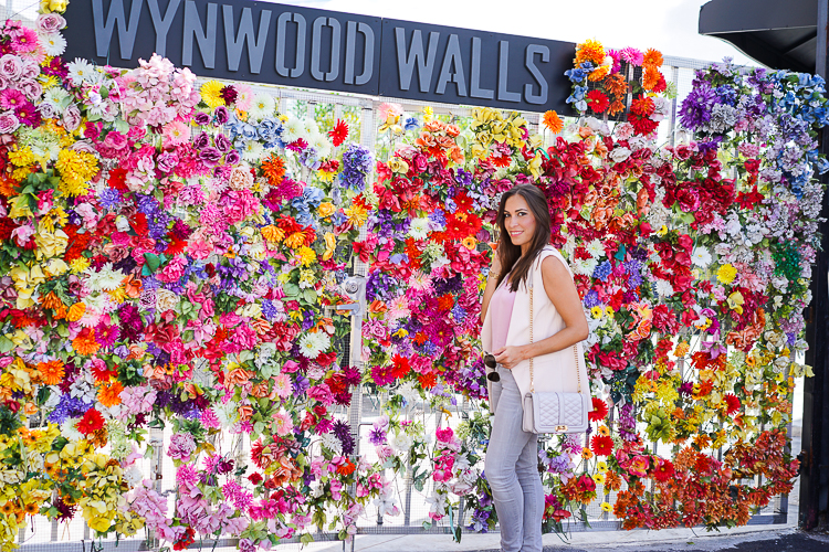
<path id="1" fill-rule="evenodd" d="M 531 280 L 529 288 L 529 342 L 533 342 L 533 296 L 535 286 Z M 529 433 L 585 433 L 587 431 L 587 413 L 591 406 L 589 394 L 581 393 L 581 372 L 578 369 L 578 349 L 573 346 L 576 357 L 576 376 L 578 392 L 556 393 L 545 391 L 535 392 L 535 374 L 533 359 L 529 359 L 529 393 L 524 395 L 523 428 Z"/>

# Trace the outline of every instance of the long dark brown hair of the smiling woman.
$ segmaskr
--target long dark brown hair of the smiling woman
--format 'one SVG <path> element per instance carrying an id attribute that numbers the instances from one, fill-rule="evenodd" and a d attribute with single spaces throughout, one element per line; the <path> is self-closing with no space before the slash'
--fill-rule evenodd
<path id="1" fill-rule="evenodd" d="M 506 200 L 513 195 L 521 195 L 524 198 L 524 201 L 526 201 L 529 206 L 529 212 L 533 213 L 533 216 L 535 217 L 535 234 L 533 235 L 533 241 L 529 242 L 527 254 L 523 256 L 521 254 L 521 246 L 513 245 L 504 222 Z M 497 255 L 501 258 L 501 274 L 499 275 L 497 286 L 501 285 L 501 282 L 506 278 L 506 275 L 512 270 L 513 276 L 510 280 L 510 289 L 512 291 L 517 291 L 518 284 L 526 282 L 527 274 L 529 274 L 529 267 L 536 256 L 541 253 L 544 246 L 549 243 L 550 219 L 547 198 L 544 195 L 544 192 L 533 184 L 515 185 L 501 197 L 501 205 L 499 206 L 499 214 L 495 222 L 501 231 L 497 248 Z"/>

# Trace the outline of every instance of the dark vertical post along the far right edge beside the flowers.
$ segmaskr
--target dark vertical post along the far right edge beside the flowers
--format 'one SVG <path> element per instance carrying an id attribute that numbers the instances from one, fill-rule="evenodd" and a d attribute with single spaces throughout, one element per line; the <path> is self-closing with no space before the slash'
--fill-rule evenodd
<path id="1" fill-rule="evenodd" d="M 823 78 L 829 76 L 827 65 L 827 29 L 829 25 L 829 0 L 818 1 L 818 46 L 816 72 Z M 829 130 L 820 134 L 820 152 L 829 153 Z M 827 178 L 821 178 L 827 182 Z M 800 476 L 799 524 L 804 529 L 815 529 L 827 523 L 829 509 L 829 194 L 823 194 L 819 225 L 822 251 L 817 252 L 812 273 L 812 304 L 806 323 L 806 340 L 809 350 L 806 363 L 812 367 L 814 378 L 804 382 L 804 432 Z"/>

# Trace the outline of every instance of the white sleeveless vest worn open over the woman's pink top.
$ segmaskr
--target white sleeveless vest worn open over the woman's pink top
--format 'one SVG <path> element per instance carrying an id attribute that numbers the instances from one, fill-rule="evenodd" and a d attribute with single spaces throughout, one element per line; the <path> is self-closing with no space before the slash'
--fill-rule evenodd
<path id="1" fill-rule="evenodd" d="M 567 261 L 562 256 L 558 251 L 552 245 L 544 247 L 536 262 L 531 267 L 532 282 L 535 286 L 538 286 L 535 290 L 535 304 L 533 305 L 534 310 L 534 326 L 533 326 L 533 340 L 534 342 L 542 341 L 565 328 L 564 319 L 562 315 L 556 310 L 553 301 L 547 297 L 547 293 L 544 289 L 544 280 L 542 279 L 542 262 L 554 255 L 558 258 L 567 272 L 573 277 Z M 531 275 L 527 275 L 531 276 Z M 529 279 L 529 278 L 528 278 Z M 484 317 L 483 327 L 481 329 L 481 344 L 484 351 L 492 352 L 492 308 L 486 309 L 486 316 Z M 506 335 L 507 346 L 522 346 L 529 343 L 529 294 L 527 288 L 522 284 L 518 286 L 518 290 L 515 293 L 515 302 L 513 304 L 513 312 L 510 318 L 510 329 Z M 578 354 L 578 370 L 581 372 L 581 393 L 590 395 L 590 383 L 587 380 L 587 365 L 585 364 L 584 349 L 581 343 L 576 344 Z M 542 354 L 535 357 L 534 372 L 535 372 L 535 391 L 556 391 L 566 393 L 576 393 L 578 391 L 578 380 L 576 370 L 573 369 L 573 347 L 568 347 L 560 351 L 552 352 L 549 354 Z M 568 367 L 567 370 L 558 369 L 558 367 Z M 529 392 L 529 360 L 523 360 L 512 370 L 515 383 L 521 391 L 523 397 Z M 489 396 L 492 397 L 492 382 L 486 380 L 486 386 Z M 522 400 L 522 405 L 524 401 Z M 589 403 L 588 403 L 589 404 Z M 490 411 L 495 412 L 495 405 L 490 400 Z"/>

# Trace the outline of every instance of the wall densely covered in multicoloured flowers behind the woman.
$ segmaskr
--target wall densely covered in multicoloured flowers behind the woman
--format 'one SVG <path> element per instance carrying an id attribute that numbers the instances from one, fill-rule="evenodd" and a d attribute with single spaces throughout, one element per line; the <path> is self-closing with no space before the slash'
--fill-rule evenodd
<path id="1" fill-rule="evenodd" d="M 372 151 L 345 120 L 280 114 L 244 84 L 197 89 L 158 56 L 62 60 L 50 6 L 65 8 L 0 32 L 3 550 L 39 513 L 177 550 L 348 538 L 375 508 L 398 513 L 391 478 L 409 470 L 431 522 L 494 528 L 480 295 L 500 194 L 524 182 L 549 199 L 592 330 L 591 431 L 539 452 L 547 529 L 592 501 L 626 528 L 743 524 L 791 488 L 819 78 L 700 72 L 668 146 L 661 55 L 588 41 L 568 72 L 583 116 L 545 114 L 552 144 L 517 114 L 385 104 Z M 355 258 L 363 371 L 325 308 L 350 301 L 337 282 Z M 335 412 L 360 384 L 388 400 L 358 455 Z M 437 431 L 408 408 L 458 401 L 471 417 Z M 169 498 L 138 467 L 160 428 Z"/>

